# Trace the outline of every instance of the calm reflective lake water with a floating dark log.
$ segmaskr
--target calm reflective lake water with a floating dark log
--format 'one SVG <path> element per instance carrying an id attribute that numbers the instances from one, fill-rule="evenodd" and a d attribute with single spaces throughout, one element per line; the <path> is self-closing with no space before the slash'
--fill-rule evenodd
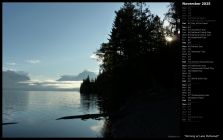
<path id="1" fill-rule="evenodd" d="M 56 120 L 99 113 L 94 97 L 67 91 L 3 91 L 3 137 L 102 137 L 102 120 Z"/>

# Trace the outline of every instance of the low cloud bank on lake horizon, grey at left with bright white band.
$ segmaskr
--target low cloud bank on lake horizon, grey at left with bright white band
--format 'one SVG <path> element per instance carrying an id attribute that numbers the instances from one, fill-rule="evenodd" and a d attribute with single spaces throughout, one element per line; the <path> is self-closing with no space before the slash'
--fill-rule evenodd
<path id="1" fill-rule="evenodd" d="M 22 71 L 3 71 L 3 88 L 37 91 L 74 91 L 82 81 L 31 80 Z"/>

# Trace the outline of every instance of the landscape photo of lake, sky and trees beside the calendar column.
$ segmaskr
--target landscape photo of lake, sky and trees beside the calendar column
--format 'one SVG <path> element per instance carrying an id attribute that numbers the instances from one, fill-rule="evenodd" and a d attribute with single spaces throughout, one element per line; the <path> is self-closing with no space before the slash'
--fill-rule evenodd
<path id="1" fill-rule="evenodd" d="M 178 2 L 3 2 L 3 138 L 180 136 Z"/>

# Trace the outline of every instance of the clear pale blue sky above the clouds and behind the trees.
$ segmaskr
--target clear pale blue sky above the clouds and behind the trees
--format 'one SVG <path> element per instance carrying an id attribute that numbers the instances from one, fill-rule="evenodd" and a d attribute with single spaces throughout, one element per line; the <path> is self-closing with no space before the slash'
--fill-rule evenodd
<path id="1" fill-rule="evenodd" d="M 95 73 L 93 53 L 107 42 L 123 3 L 3 3 L 3 70 L 24 71 L 34 80 Z M 169 3 L 148 3 L 161 18 Z"/>

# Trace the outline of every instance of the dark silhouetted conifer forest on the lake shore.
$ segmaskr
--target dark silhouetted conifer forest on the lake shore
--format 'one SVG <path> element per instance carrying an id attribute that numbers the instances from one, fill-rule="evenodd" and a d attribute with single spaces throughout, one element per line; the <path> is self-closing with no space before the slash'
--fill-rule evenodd
<path id="1" fill-rule="evenodd" d="M 169 5 L 166 28 L 164 20 L 152 14 L 144 2 L 125 2 L 115 14 L 108 42 L 95 52 L 102 62 L 99 75 L 95 80 L 84 79 L 80 87 L 81 94 L 103 98 L 103 113 L 117 111 L 128 97 L 151 91 L 162 93 L 179 84 L 178 3 Z"/>

